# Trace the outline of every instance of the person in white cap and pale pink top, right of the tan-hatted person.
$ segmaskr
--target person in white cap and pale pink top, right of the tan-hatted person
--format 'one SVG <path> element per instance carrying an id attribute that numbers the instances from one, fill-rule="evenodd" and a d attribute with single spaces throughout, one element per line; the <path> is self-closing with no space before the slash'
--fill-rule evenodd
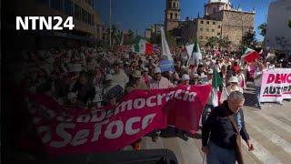
<path id="1" fill-rule="evenodd" d="M 149 86 L 151 89 L 174 87 L 174 85 L 166 77 L 162 77 L 162 71 L 159 67 L 155 68 L 154 78 L 150 80 Z"/>

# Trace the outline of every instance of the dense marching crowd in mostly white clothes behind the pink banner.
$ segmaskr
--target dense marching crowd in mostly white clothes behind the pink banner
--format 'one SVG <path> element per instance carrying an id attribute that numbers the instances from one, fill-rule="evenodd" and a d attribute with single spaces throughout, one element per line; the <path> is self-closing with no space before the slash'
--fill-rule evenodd
<path id="1" fill-rule="evenodd" d="M 24 51 L 19 85 L 33 93 L 54 97 L 65 108 L 102 108 L 115 106 L 122 97 L 135 89 L 156 89 L 178 85 L 212 84 L 213 74 L 218 73 L 223 81 L 221 92 L 229 95 L 233 91 L 241 93 L 246 89 L 246 81 L 255 81 L 256 107 L 260 108 L 259 91 L 262 71 L 266 68 L 291 67 L 291 60 L 281 57 L 267 61 L 266 57 L 246 63 L 241 54 L 224 52 L 214 55 L 212 51 L 203 53 L 199 65 L 187 66 L 187 58 L 182 48 L 173 56 L 175 71 L 162 72 L 159 62 L 160 52 L 141 55 L 130 48 L 80 46 L 76 48 Z M 254 76 L 250 74 L 255 66 Z M 207 106 L 213 108 L 210 95 Z M 227 97 L 222 96 L 223 104 Z M 153 138 L 155 141 L 159 131 Z"/>

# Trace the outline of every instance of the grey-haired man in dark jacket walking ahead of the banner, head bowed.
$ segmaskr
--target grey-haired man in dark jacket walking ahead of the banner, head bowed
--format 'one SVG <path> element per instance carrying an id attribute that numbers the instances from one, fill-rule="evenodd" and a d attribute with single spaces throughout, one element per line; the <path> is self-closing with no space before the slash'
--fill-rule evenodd
<path id="1" fill-rule="evenodd" d="M 244 95 L 239 91 L 231 92 L 220 107 L 214 108 L 202 129 L 202 151 L 206 153 L 208 164 L 236 163 L 236 128 L 229 116 L 236 120 L 240 135 L 246 141 L 249 150 L 254 146 L 246 132 Z"/>

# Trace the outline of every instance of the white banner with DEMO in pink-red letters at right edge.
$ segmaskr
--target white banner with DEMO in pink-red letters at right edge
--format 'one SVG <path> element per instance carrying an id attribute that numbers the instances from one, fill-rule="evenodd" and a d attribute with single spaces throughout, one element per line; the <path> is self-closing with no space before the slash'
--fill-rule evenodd
<path id="1" fill-rule="evenodd" d="M 291 98 L 291 68 L 263 72 L 260 102 L 277 102 Z"/>

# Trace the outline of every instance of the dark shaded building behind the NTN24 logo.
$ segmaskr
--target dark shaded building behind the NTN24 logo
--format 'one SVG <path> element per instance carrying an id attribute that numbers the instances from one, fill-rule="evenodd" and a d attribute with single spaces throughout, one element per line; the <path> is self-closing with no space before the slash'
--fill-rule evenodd
<path id="1" fill-rule="evenodd" d="M 56 31 L 29 31 L 23 38 L 16 40 L 22 43 L 35 42 L 30 44 L 46 48 L 61 45 L 75 45 L 76 42 L 92 42 L 103 38 L 103 24 L 101 16 L 95 11 L 94 0 L 11 0 L 6 15 L 15 17 L 16 15 L 59 15 L 65 19 L 67 16 L 74 17 L 74 30 Z M 14 26 L 15 21 L 8 22 Z M 25 34 L 25 33 L 24 33 Z M 25 41 L 27 40 L 27 41 Z M 25 46 L 25 44 L 19 44 Z M 27 45 L 29 46 L 29 45 Z"/>

